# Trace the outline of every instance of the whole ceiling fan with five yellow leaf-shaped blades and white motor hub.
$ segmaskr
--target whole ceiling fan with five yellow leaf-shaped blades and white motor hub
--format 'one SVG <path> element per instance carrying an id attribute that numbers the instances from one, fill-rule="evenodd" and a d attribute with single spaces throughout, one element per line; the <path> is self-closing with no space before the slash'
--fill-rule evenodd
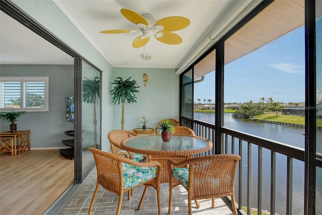
<path id="1" fill-rule="evenodd" d="M 119 29 L 101 31 L 100 33 L 124 34 L 141 32 L 142 35 L 134 39 L 132 43 L 134 48 L 140 48 L 147 44 L 152 35 L 154 35 L 156 40 L 165 44 L 180 44 L 182 42 L 182 38 L 173 32 L 184 29 L 190 25 L 190 20 L 185 17 L 166 17 L 155 22 L 152 15 L 139 15 L 129 9 L 121 9 L 121 14 L 130 22 L 137 25 L 139 30 Z"/>

